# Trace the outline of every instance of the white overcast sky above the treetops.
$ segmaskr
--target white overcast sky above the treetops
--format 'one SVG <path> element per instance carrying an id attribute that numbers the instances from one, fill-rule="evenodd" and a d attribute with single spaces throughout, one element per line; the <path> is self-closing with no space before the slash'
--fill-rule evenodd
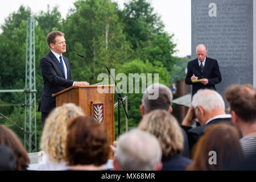
<path id="1" fill-rule="evenodd" d="M 65 18 L 68 10 L 73 7 L 76 0 L 7 0 L 0 3 L 0 24 L 5 18 L 14 11 L 19 9 L 20 5 L 29 6 L 32 13 L 38 13 L 40 10 L 47 10 L 53 6 L 59 6 L 59 11 Z M 113 0 L 123 9 L 123 2 L 129 0 Z M 165 30 L 174 34 L 174 42 L 177 44 L 176 49 L 179 51 L 176 56 L 191 55 L 191 0 L 150 0 L 155 13 L 162 16 Z"/>

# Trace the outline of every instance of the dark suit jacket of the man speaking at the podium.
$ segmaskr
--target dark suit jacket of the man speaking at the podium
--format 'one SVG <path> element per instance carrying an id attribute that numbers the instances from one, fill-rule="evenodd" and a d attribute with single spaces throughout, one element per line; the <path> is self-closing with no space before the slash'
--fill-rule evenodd
<path id="1" fill-rule="evenodd" d="M 60 62 L 51 51 L 40 60 L 44 88 L 38 111 L 49 113 L 54 107 L 56 107 L 55 97 L 52 97 L 52 94 L 60 92 L 61 90 L 73 85 L 68 58 L 63 56 L 63 59 L 67 67 L 68 79 L 65 79 Z"/>

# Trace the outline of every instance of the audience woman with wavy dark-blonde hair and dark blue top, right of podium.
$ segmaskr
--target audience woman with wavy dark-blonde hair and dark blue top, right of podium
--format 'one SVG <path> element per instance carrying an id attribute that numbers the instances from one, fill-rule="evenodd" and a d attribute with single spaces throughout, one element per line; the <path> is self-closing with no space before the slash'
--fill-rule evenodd
<path id="1" fill-rule="evenodd" d="M 191 160 L 183 158 L 183 135 L 176 119 L 165 110 L 154 110 L 144 115 L 138 129 L 154 135 L 162 148 L 163 171 L 183 171 Z"/>

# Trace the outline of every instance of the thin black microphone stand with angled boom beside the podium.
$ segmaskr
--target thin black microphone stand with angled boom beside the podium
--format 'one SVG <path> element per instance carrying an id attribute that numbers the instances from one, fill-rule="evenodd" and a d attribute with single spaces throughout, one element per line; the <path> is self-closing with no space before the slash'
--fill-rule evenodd
<path id="1" fill-rule="evenodd" d="M 84 59 L 93 61 L 94 63 L 98 63 L 98 64 L 101 64 L 101 65 L 104 65 L 104 67 L 106 67 L 106 69 L 108 69 L 108 72 L 109 72 L 110 76 L 112 77 L 112 79 L 113 79 L 114 82 L 115 82 L 115 78 L 114 78 L 113 75 L 111 74 L 111 72 L 110 72 L 110 70 L 109 70 L 109 68 L 108 68 L 107 65 L 102 64 L 102 63 L 99 63 L 99 62 L 94 61 L 94 60 L 91 60 L 91 59 L 89 59 L 88 57 L 85 57 L 85 56 L 80 55 L 79 53 L 76 53 L 76 54 L 77 54 L 78 56 L 84 58 Z M 121 102 L 122 102 L 122 105 L 123 105 L 123 109 L 125 110 L 126 118 L 129 119 L 129 117 L 128 117 L 127 111 L 126 111 L 126 109 L 125 109 L 125 105 L 123 104 L 123 97 L 122 97 L 122 95 L 121 95 L 121 90 L 118 88 L 116 82 L 115 82 L 115 87 L 117 88 L 117 95 L 118 95 L 117 100 L 118 100 L 118 137 L 119 137 L 119 135 L 120 135 Z"/>

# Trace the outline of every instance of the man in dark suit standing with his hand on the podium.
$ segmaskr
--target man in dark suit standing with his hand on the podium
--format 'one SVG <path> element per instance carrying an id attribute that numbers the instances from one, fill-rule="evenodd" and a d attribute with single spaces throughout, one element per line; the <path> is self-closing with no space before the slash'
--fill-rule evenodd
<path id="1" fill-rule="evenodd" d="M 72 81 L 69 60 L 62 53 L 66 52 L 63 32 L 52 31 L 47 35 L 51 51 L 40 60 L 44 88 L 38 111 L 42 112 L 42 127 L 48 114 L 56 107 L 53 93 L 60 92 L 69 86 L 89 85 L 86 81 Z"/>

